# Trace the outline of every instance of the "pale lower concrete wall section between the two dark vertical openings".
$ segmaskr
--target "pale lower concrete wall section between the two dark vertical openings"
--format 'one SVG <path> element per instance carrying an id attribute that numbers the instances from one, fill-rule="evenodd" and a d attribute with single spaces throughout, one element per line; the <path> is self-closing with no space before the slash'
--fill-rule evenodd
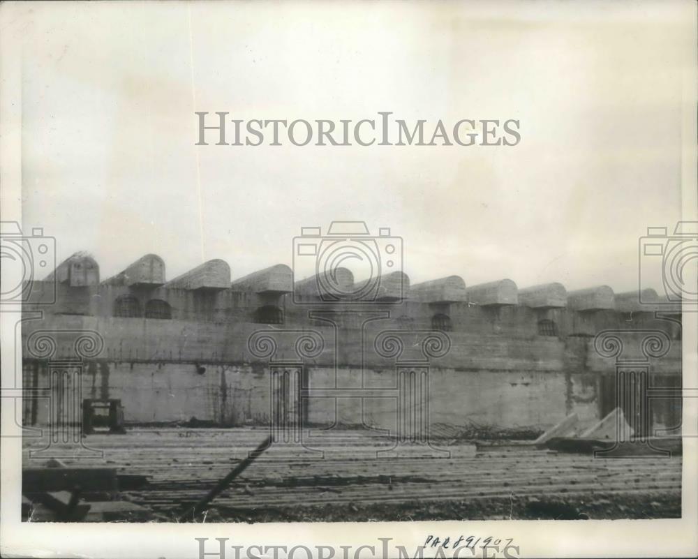
<path id="1" fill-rule="evenodd" d="M 313 369 L 311 387 L 334 386 L 334 371 Z M 383 396 L 361 398 L 362 375 L 357 369 L 341 369 L 338 388 L 344 396 L 313 397 L 309 402 L 309 422 L 332 426 L 366 424 L 396 429 L 399 398 L 394 370 L 367 370 L 364 387 Z M 429 371 L 429 422 L 467 425 L 475 422 L 495 426 L 544 427 L 577 412 L 584 423 L 599 416 L 595 375 L 565 375 L 559 371 L 456 371 L 452 368 Z M 355 396 L 351 390 L 357 392 Z M 330 391 L 328 391 L 330 392 Z"/>

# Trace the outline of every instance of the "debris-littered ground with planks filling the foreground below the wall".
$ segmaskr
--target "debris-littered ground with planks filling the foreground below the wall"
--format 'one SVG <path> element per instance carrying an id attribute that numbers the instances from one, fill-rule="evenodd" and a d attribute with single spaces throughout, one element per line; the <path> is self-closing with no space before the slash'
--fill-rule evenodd
<path id="1" fill-rule="evenodd" d="M 91 435 L 90 444 L 104 449 L 104 458 L 98 465 L 117 472 L 119 491 L 113 498 L 120 501 L 108 502 L 121 504 L 96 504 L 89 493 L 83 492 L 82 498 L 91 507 L 84 521 L 107 516 L 133 519 L 139 514 L 175 521 L 181 510 L 191 510 L 202 500 L 202 494 L 210 494 L 230 474 L 231 464 L 242 463 L 249 456 L 258 445 L 260 433 L 266 434 L 253 428 L 135 428 L 129 431 L 128 439 Z M 577 441 L 585 443 L 584 439 Z M 609 440 L 600 443 L 609 445 Z M 31 440 L 25 442 L 27 451 L 31 444 Z M 445 448 L 456 450 L 461 444 L 470 446 L 456 441 Z M 597 444 L 599 441 L 593 443 Z M 326 452 L 322 458 L 303 447 L 295 456 L 285 449 L 282 457 L 272 445 L 255 461 L 254 468 L 239 472 L 202 510 L 207 511 L 207 522 L 304 518 L 357 521 L 408 519 L 407 516 L 421 520 L 502 516 L 508 519 L 510 514 L 521 519 L 556 517 L 554 511 L 546 512 L 544 505 L 543 509 L 536 509 L 539 505 L 527 507 L 527 502 L 537 499 L 563 501 L 593 519 L 600 518 L 600 514 L 607 515 L 604 518 L 645 518 L 650 502 L 660 503 L 655 512 L 658 517 L 681 515 L 682 472 L 678 454 L 648 455 L 641 460 L 630 455 L 599 460 L 593 452 L 568 454 L 519 444 L 487 447 L 471 456 L 454 452 L 446 458 L 376 457 L 376 451 L 392 445 L 394 440 L 390 438 L 366 440 L 357 437 L 355 431 L 334 431 L 325 442 L 313 442 L 313 446 L 328 451 L 340 446 L 356 451 L 354 456 L 350 456 L 351 452 L 341 453 L 341 459 L 334 459 L 332 452 Z M 373 449 L 372 456 L 369 449 Z M 25 463 L 31 464 L 31 459 L 25 458 Z M 66 463 L 68 469 L 75 470 L 80 462 L 66 459 Z M 122 475 L 144 476 L 148 483 L 127 490 L 119 482 Z M 597 505 L 600 500 L 610 504 Z M 44 505 L 36 499 L 35 502 L 40 512 Z M 621 510 L 621 505 L 630 509 Z M 24 502 L 23 508 L 28 506 Z M 350 506 L 356 512 L 350 511 Z M 117 510 L 100 512 L 103 507 Z M 48 513 L 48 517 L 35 514 L 32 519 L 55 520 L 55 515 Z"/>

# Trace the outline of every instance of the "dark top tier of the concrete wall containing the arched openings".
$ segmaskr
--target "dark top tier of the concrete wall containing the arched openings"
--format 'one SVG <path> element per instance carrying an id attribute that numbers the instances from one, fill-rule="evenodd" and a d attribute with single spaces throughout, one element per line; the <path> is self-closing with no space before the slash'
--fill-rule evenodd
<path id="1" fill-rule="evenodd" d="M 348 270 L 346 272 L 350 274 Z M 342 279 L 341 274 L 338 278 Z M 342 281 L 345 280 L 346 278 Z M 306 292 L 317 292 L 314 278 L 309 278 L 306 282 L 309 284 L 305 285 Z M 309 320 L 309 306 L 305 304 L 307 302 L 313 304 L 313 309 L 334 316 L 339 325 L 356 322 L 350 318 L 350 314 L 355 313 L 355 305 L 336 300 L 318 304 L 318 297 L 299 295 L 298 292 L 292 297 L 291 294 L 253 293 L 232 288 L 191 291 L 162 286 L 142 290 L 105 284 L 70 288 L 64 283 L 44 281 L 33 282 L 31 288 L 31 299 L 24 305 L 25 311 L 36 310 L 45 315 L 62 315 L 64 320 L 68 320 L 66 315 L 110 317 L 115 299 L 128 295 L 138 299 L 142 308 L 147 306 L 150 299 L 166 301 L 172 308 L 172 320 L 216 322 L 226 325 L 255 322 L 255 311 L 260 306 L 274 304 L 283 310 L 285 325 L 292 328 L 307 327 L 313 324 Z M 343 289 L 351 293 L 353 284 L 346 283 Z M 295 303 L 296 297 L 302 299 L 301 304 Z M 439 305 L 415 299 L 374 301 L 371 310 L 383 313 L 395 325 L 406 329 L 431 329 L 434 313 L 445 313 L 451 319 L 454 333 L 495 334 L 507 339 L 530 339 L 537 336 L 537 323 L 543 319 L 555 322 L 560 338 L 593 337 L 604 329 L 658 329 L 666 331 L 672 339 L 681 336 L 680 314 L 674 315 L 675 320 L 664 320 L 655 318 L 651 313 L 628 315 L 615 310 L 588 312 L 572 308 L 534 309 L 523 305 L 481 306 L 462 301 Z"/>

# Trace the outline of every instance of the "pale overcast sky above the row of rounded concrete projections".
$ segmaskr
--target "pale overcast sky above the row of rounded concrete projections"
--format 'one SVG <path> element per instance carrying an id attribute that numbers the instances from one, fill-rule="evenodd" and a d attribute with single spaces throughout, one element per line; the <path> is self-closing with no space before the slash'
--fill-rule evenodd
<path id="1" fill-rule="evenodd" d="M 637 286 L 680 218 L 690 20 L 653 4 L 59 3 L 22 30 L 24 228 L 102 278 L 292 262 L 305 226 L 403 238 L 413 282 Z M 29 7 L 27 8 L 29 9 Z M 489 10 L 489 11 L 487 11 Z M 535 10 L 535 11 L 534 11 Z M 508 15 L 505 15 L 508 14 Z M 544 15 L 542 15 L 544 14 Z M 516 147 L 195 147 L 239 119 L 518 119 Z"/>

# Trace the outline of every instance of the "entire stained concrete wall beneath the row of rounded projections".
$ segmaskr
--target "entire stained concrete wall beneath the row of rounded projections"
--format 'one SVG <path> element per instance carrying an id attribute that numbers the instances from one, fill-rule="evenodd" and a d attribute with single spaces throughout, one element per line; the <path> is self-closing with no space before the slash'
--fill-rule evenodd
<path id="1" fill-rule="evenodd" d="M 151 299 L 167 301 L 172 319 L 114 317 L 114 301 L 124 295 L 138 299 L 142 308 Z M 23 323 L 24 383 L 48 387 L 50 363 L 75 359 L 76 336 L 93 332 L 100 350 L 83 359 L 82 398 L 121 399 L 127 422 L 196 417 L 221 425 L 264 425 L 278 392 L 272 386 L 279 370 L 274 364 L 290 370 L 302 364 L 302 386 L 293 386 L 304 391 L 302 408 L 310 422 L 394 429 L 401 397 L 396 367 L 411 363 L 419 370 L 432 318 L 445 314 L 450 347 L 429 358 L 431 422 L 545 427 L 571 412 L 583 422 L 601 417 L 614 402 L 616 367 L 614 358 L 593 345 L 604 330 L 664 332 L 671 348 L 648 364 L 658 384 L 681 385 L 680 318 L 415 299 L 376 302 L 357 311 L 309 297 L 312 305 L 240 285 L 206 291 L 36 282 L 25 309 L 41 310 L 44 317 Z M 256 311 L 265 305 L 281 308 L 283 325 L 255 323 Z M 557 335 L 540 335 L 542 320 L 554 322 Z M 41 331 L 52 337 L 51 355 L 37 349 Z M 400 355 L 382 352 L 379 341 L 386 341 L 386 331 L 403 344 Z M 626 350 L 637 356 L 641 341 L 630 338 Z M 273 355 L 262 355 L 267 342 L 276 345 Z M 27 403 L 25 421 L 45 421 L 45 405 Z M 676 414 L 675 404 L 655 405 L 656 424 L 669 425 Z"/>

